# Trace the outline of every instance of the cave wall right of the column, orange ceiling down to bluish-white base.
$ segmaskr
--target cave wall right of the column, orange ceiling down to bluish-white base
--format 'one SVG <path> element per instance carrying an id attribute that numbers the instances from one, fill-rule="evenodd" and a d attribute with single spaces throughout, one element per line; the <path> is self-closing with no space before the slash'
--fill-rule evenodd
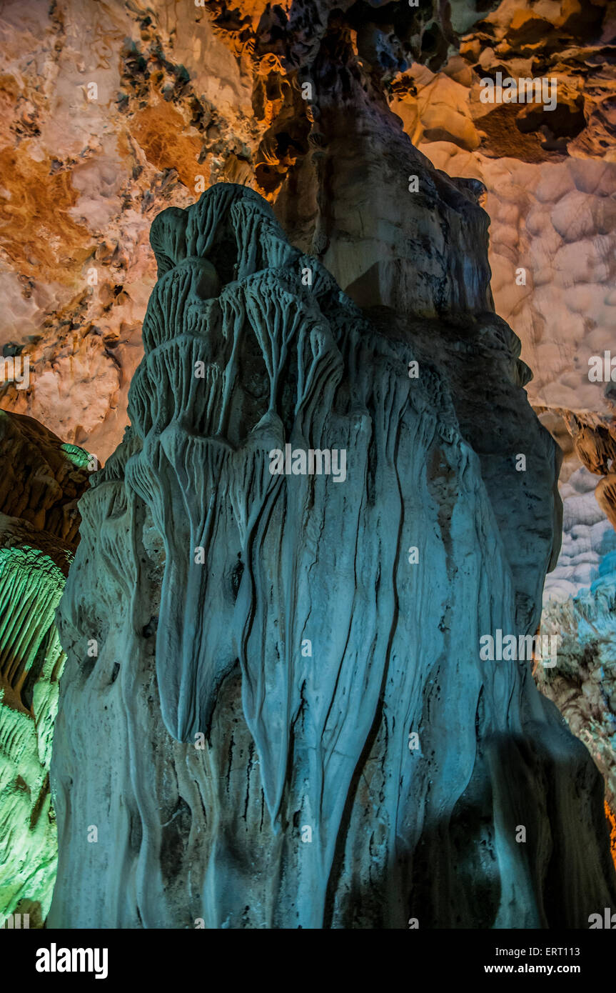
<path id="1" fill-rule="evenodd" d="M 411 66 L 390 88 L 414 144 L 487 191 L 495 305 L 533 369 L 529 398 L 567 453 L 562 549 L 543 620 L 566 644 L 565 673 L 558 665 L 537 675 L 606 774 L 612 806 L 614 718 L 603 686 L 616 659 L 606 643 L 589 669 L 594 648 L 578 620 L 590 612 L 597 633 L 613 621 L 604 593 L 616 548 L 614 384 L 588 373 L 591 356 L 613 355 L 616 327 L 615 40 L 610 3 L 502 3 L 442 70 Z M 482 102 L 480 80 L 498 72 L 554 80 L 554 110 Z"/>

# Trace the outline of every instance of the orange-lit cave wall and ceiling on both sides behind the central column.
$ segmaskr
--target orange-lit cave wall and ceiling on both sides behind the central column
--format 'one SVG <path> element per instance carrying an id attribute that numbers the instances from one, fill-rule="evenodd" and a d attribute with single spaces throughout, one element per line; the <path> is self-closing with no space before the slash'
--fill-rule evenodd
<path id="1" fill-rule="evenodd" d="M 9 387 L 3 406 L 106 459 L 127 423 L 141 358 L 156 213 L 191 203 L 197 177 L 205 187 L 246 183 L 273 204 L 295 197 L 308 214 L 326 206 L 340 153 L 332 127 L 344 141 L 349 122 L 368 110 L 378 149 L 391 140 L 388 103 L 398 130 L 437 168 L 486 187 L 492 291 L 534 369 L 532 401 L 605 413 L 585 359 L 610 347 L 614 328 L 613 5 L 536 7 L 5 3 L 0 333 L 2 345 L 19 342 L 31 356 L 32 383 L 27 392 Z M 356 86 L 336 86 L 341 65 Z M 497 71 L 555 75 L 561 109 L 482 104 L 479 79 Z M 312 82 L 311 100 L 303 99 L 304 81 Z M 334 89 L 339 117 L 323 118 Z M 377 249 L 396 257 L 410 238 L 391 226 L 399 200 L 387 203 L 380 163 L 360 160 L 352 138 L 345 153 L 352 175 L 364 171 L 381 190 L 374 213 L 383 237 L 374 238 L 381 243 L 369 266 Z M 318 165 L 315 190 L 305 184 L 308 160 Z M 321 242 L 335 242 L 355 218 L 361 230 L 361 193 L 353 180 L 340 225 L 328 230 L 325 217 Z M 27 222 L 27 212 L 35 219 Z M 309 217 L 292 224 L 281 216 L 342 289 L 364 277 L 362 270 L 346 279 L 342 252 L 324 259 L 318 243 L 308 249 Z M 519 267 L 526 285 L 516 283 Z"/>

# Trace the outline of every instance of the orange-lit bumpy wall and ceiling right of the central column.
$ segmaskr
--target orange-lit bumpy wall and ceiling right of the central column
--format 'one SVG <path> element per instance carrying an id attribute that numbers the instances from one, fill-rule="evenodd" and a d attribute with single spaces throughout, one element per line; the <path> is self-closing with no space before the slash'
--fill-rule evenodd
<path id="1" fill-rule="evenodd" d="M 533 369 L 531 402 L 561 418 L 582 465 L 602 476 L 613 398 L 589 379 L 588 359 L 612 349 L 616 325 L 615 40 L 613 4 L 503 2 L 444 67 L 418 60 L 389 87 L 431 162 L 484 184 L 492 292 Z M 499 72 L 552 80 L 554 109 L 482 102 L 481 80 Z M 597 497 L 613 523 L 609 476 Z"/>

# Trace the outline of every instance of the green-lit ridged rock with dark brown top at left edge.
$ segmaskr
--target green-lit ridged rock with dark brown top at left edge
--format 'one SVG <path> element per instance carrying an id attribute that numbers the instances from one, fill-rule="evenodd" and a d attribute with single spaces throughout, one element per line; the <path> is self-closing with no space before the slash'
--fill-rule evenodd
<path id="1" fill-rule="evenodd" d="M 58 854 L 49 769 L 64 653 L 55 612 L 77 541 L 85 452 L 0 412 L 0 922 L 40 926 Z"/>

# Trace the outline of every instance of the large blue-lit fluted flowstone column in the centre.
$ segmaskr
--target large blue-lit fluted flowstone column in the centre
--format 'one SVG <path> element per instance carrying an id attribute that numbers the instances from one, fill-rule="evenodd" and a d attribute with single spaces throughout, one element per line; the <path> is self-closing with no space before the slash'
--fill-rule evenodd
<path id="1" fill-rule="evenodd" d="M 50 924 L 587 926 L 616 903 L 602 781 L 531 663 L 479 656 L 535 634 L 559 543 L 512 331 L 360 311 L 241 187 L 151 240 L 59 611 Z M 344 479 L 271 473 L 287 445 Z"/>

